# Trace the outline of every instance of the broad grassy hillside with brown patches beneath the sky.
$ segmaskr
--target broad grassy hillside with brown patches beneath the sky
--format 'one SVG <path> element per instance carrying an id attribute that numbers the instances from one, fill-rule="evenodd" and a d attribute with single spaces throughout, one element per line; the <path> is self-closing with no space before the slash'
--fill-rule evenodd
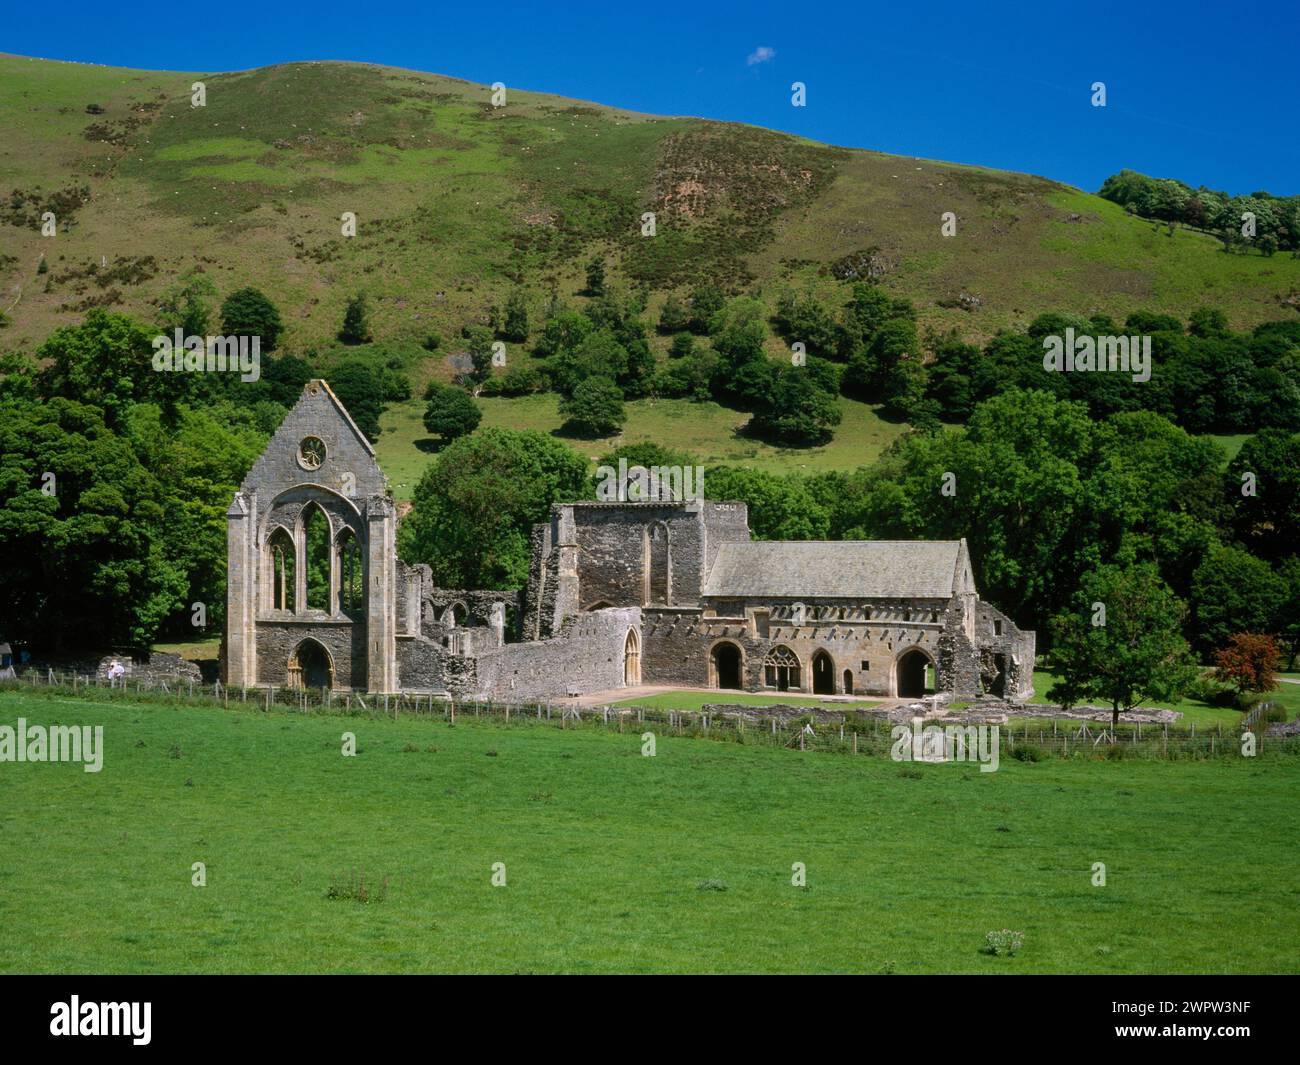
<path id="1" fill-rule="evenodd" d="M 148 316 L 196 264 L 222 295 L 270 294 L 287 348 L 329 339 L 360 289 L 387 339 L 454 334 L 516 282 L 540 309 L 594 254 L 615 281 L 649 286 L 651 309 L 701 277 L 775 299 L 855 264 L 924 322 L 972 337 L 1044 309 L 1202 302 L 1244 326 L 1287 313 L 1279 298 L 1300 289 L 1300 260 L 1227 256 L 1043 178 L 514 90 L 494 108 L 484 86 L 360 64 L 190 74 L 0 56 L 0 125 L 5 346 L 96 303 Z M 945 211 L 957 237 L 940 235 Z M 979 306 L 942 306 L 963 294 Z"/>

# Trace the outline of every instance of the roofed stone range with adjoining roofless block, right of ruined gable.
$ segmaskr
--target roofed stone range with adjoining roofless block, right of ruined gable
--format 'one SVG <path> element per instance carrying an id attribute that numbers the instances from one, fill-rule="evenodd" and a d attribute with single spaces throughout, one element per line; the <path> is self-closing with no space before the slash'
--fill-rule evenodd
<path id="1" fill-rule="evenodd" d="M 564 503 L 534 532 L 525 635 L 636 609 L 629 681 L 1027 700 L 1035 636 L 975 588 L 965 540 L 753 541 L 745 503 Z"/>

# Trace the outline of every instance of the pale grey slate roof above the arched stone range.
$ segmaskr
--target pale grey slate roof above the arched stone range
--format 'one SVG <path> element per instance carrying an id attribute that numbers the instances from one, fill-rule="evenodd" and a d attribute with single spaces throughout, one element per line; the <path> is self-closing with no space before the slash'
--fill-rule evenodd
<path id="1" fill-rule="evenodd" d="M 959 540 L 758 540 L 729 542 L 703 596 L 728 598 L 946 599 Z"/>

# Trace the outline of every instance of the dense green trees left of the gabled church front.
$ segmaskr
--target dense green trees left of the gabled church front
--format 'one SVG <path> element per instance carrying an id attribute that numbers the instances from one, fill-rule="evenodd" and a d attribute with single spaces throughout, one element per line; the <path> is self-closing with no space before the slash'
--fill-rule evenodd
<path id="1" fill-rule="evenodd" d="M 207 278 L 183 277 L 173 296 L 162 322 L 207 326 Z M 247 291 L 222 315 L 255 330 L 278 319 Z M 242 381 L 159 372 L 153 337 L 95 308 L 55 330 L 39 362 L 0 359 L 0 550 L 20 560 L 0 590 L 3 638 L 74 651 L 220 632 L 226 508 L 307 381 L 326 376 L 372 440 L 384 404 L 410 395 L 403 359 L 381 345 L 337 365 L 263 355 L 259 380 Z"/>

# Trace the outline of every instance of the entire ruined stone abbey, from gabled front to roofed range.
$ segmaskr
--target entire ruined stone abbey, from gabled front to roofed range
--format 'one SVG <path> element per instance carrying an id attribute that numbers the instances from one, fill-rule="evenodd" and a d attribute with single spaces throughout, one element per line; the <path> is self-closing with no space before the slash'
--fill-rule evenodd
<path id="1" fill-rule="evenodd" d="M 521 592 L 396 557 L 374 450 L 308 382 L 228 512 L 234 687 L 563 697 L 637 684 L 1032 694 L 1034 633 L 966 541 L 753 541 L 745 503 L 558 503 Z"/>

